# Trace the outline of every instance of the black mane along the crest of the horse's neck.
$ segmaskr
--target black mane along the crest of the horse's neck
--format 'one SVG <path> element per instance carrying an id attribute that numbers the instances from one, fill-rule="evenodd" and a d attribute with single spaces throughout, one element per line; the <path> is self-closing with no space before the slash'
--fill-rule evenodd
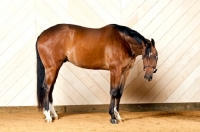
<path id="1" fill-rule="evenodd" d="M 117 29 L 118 31 L 134 38 L 139 44 L 142 45 L 142 42 L 144 42 L 145 44 L 147 44 L 147 40 L 144 38 L 144 36 L 142 36 L 140 33 L 138 33 L 135 30 L 130 29 L 129 27 L 126 26 L 120 26 L 117 24 L 112 24 L 114 26 L 115 29 Z"/>

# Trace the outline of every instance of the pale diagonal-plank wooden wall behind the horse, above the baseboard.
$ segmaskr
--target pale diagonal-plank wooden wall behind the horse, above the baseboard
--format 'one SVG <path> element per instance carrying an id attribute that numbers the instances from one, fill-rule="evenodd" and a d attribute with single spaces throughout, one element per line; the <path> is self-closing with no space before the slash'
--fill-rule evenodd
<path id="1" fill-rule="evenodd" d="M 200 100 L 199 0 L 2 0 L 0 1 L 0 106 L 36 103 L 35 42 L 59 23 L 99 28 L 117 23 L 154 38 L 159 52 L 153 81 L 143 79 L 141 56 L 127 79 L 121 103 Z M 65 63 L 55 105 L 108 104 L 110 74 Z"/>

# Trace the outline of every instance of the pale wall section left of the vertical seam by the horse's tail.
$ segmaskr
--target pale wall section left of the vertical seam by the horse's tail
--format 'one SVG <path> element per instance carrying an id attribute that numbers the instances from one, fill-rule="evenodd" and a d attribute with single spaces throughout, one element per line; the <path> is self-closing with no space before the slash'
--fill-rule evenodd
<path id="1" fill-rule="evenodd" d="M 0 106 L 34 105 L 35 1 L 1 2 Z"/>

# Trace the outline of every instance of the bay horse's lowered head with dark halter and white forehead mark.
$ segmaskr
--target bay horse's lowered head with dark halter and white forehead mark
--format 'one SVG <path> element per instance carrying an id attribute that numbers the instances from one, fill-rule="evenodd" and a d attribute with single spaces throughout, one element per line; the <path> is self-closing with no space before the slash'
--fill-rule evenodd
<path id="1" fill-rule="evenodd" d="M 142 59 L 145 75 L 144 78 L 151 81 L 153 73 L 156 73 L 156 65 L 158 61 L 158 53 L 155 48 L 155 42 L 153 39 L 147 40 L 146 44 L 143 44 Z"/>

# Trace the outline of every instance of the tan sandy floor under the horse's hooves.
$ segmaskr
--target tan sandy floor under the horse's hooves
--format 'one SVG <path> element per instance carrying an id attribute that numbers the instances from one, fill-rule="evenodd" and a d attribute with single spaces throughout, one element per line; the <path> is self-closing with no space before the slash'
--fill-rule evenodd
<path id="1" fill-rule="evenodd" d="M 0 132 L 199 132 L 200 111 L 120 112 L 113 125 L 108 113 L 59 114 L 52 123 L 42 113 L 0 113 Z"/>

